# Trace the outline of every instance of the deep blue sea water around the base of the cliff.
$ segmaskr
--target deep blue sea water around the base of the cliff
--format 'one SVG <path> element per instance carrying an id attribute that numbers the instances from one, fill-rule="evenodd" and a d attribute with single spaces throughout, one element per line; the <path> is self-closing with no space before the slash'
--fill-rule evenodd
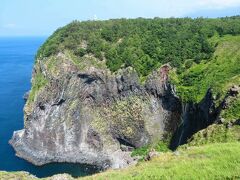
<path id="1" fill-rule="evenodd" d="M 37 177 L 92 174 L 96 172 L 94 167 L 79 164 L 34 166 L 16 157 L 8 144 L 13 131 L 23 129 L 23 95 L 31 87 L 34 56 L 45 40 L 43 37 L 0 38 L 0 171 L 27 171 Z"/>

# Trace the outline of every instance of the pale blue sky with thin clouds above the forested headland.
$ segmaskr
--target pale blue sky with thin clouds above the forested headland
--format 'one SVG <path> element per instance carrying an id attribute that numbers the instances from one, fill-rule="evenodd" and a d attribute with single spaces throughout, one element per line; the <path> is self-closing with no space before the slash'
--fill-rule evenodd
<path id="1" fill-rule="evenodd" d="M 0 0 L 0 36 L 49 36 L 73 20 L 240 15 L 240 0 Z"/>

